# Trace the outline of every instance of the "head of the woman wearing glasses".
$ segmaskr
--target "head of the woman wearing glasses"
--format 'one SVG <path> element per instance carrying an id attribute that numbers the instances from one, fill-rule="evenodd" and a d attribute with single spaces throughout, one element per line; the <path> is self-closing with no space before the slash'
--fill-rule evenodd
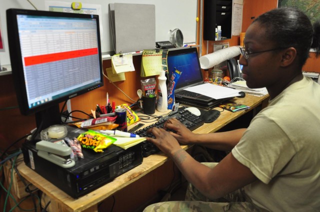
<path id="1" fill-rule="evenodd" d="M 313 27 L 300 10 L 282 7 L 257 17 L 245 33 L 239 63 L 248 87 L 266 87 L 275 95 L 295 77 L 302 77 L 301 69 L 310 47 L 320 54 L 320 24 Z"/>

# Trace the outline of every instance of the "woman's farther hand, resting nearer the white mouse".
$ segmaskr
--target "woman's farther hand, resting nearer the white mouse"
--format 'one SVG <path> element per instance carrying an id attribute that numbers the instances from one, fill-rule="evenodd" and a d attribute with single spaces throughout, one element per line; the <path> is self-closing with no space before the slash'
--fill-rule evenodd
<path id="1" fill-rule="evenodd" d="M 192 144 L 195 141 L 196 134 L 184 126 L 178 119 L 169 118 L 163 125 L 164 129 L 171 129 L 170 134 L 181 144 Z"/>

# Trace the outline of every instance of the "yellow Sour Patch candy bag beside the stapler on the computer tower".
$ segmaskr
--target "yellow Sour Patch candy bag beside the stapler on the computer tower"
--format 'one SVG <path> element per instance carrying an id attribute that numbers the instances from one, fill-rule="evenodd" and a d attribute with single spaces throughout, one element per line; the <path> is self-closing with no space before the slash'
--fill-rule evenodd
<path id="1" fill-rule="evenodd" d="M 93 149 L 95 152 L 103 152 L 103 149 L 116 141 L 114 137 L 90 129 L 81 133 L 77 139 L 83 148 Z"/>

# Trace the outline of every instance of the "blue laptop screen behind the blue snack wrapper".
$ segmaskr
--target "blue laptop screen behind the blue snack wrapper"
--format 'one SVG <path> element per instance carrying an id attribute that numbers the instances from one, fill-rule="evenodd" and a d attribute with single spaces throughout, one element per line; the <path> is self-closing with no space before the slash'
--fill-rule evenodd
<path id="1" fill-rule="evenodd" d="M 198 53 L 195 47 L 169 50 L 166 61 L 169 78 L 174 67 L 182 71 L 175 89 L 203 82 Z"/>

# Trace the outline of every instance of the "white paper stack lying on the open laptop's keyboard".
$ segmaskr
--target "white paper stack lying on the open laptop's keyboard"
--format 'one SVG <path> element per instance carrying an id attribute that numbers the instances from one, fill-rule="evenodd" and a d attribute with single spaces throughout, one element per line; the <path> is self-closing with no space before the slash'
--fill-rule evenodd
<path id="1" fill-rule="evenodd" d="M 203 83 L 200 85 L 187 87 L 184 90 L 200 93 L 202 95 L 209 96 L 211 98 L 220 99 L 226 97 L 239 96 L 240 90 L 233 89 L 230 87 L 224 87 L 211 83 Z"/>

